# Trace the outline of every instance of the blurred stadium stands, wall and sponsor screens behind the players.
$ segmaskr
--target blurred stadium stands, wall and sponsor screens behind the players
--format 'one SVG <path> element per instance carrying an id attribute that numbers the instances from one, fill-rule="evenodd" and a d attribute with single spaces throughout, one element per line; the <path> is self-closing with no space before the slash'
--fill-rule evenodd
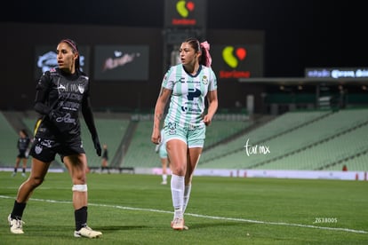
<path id="1" fill-rule="evenodd" d="M 160 166 L 150 134 L 162 77 L 177 63 L 177 45 L 196 36 L 212 44 L 220 102 L 207 129 L 198 171 L 341 171 L 343 165 L 349 171 L 368 171 L 364 64 L 309 64 L 298 77 L 268 77 L 264 30 L 207 28 L 207 1 L 190 3 L 164 1 L 161 28 L 1 21 L 6 63 L 1 66 L 0 168 L 12 170 L 18 130 L 32 132 L 36 123 L 32 108 L 36 80 L 55 65 L 55 43 L 70 37 L 79 44 L 84 71 L 92 81 L 92 106 L 101 144 L 108 145 L 110 166 L 152 173 Z M 124 57 L 134 59 L 123 62 Z M 108 60 L 121 65 L 107 67 Z M 99 168 L 100 158 L 83 125 L 89 165 Z M 59 159 L 52 169 L 63 170 Z"/>

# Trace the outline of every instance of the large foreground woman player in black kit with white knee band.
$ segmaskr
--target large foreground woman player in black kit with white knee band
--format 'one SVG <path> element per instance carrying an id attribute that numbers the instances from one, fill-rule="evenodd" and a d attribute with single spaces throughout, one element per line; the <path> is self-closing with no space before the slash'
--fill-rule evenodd
<path id="1" fill-rule="evenodd" d="M 36 130 L 29 152 L 32 156 L 30 176 L 18 190 L 8 221 L 12 233 L 23 233 L 21 217 L 28 199 L 36 187 L 43 183 L 55 155 L 60 154 L 73 183 L 76 220 L 74 236 L 97 238 L 102 233 L 93 231 L 87 225 L 87 158 L 82 145 L 78 118 L 79 112 L 82 111 L 96 153 L 100 156 L 100 140 L 90 104 L 90 83 L 88 76 L 79 68 L 76 42 L 70 39 L 61 40 L 56 53 L 59 67 L 45 72 L 36 85 L 35 110 L 43 115 L 43 119 Z"/>

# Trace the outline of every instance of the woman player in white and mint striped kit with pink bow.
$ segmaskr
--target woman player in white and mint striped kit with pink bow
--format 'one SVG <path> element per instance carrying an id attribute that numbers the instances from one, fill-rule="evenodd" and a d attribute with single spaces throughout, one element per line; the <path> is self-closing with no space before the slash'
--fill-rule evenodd
<path id="1" fill-rule="evenodd" d="M 164 75 L 155 107 L 151 141 L 160 143 L 161 120 L 172 168 L 171 190 L 174 216 L 172 229 L 183 230 L 184 212 L 188 206 L 191 181 L 204 147 L 206 126 L 218 107 L 217 79 L 211 68 L 210 44 L 188 38 L 180 45 L 181 64 L 170 67 Z M 208 109 L 205 112 L 205 100 Z"/>

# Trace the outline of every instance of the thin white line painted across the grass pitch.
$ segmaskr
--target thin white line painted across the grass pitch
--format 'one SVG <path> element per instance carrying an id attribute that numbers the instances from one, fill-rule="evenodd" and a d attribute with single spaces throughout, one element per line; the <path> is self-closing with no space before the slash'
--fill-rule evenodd
<path id="1" fill-rule="evenodd" d="M 14 198 L 11 196 L 0 195 L 0 198 L 3 199 L 10 199 Z M 52 203 L 68 203 L 72 204 L 70 201 L 56 201 L 56 200 L 47 200 L 47 199 L 36 199 L 30 198 L 29 200 L 38 201 L 38 202 L 52 202 Z M 158 210 L 158 209 L 142 209 L 142 208 L 132 208 L 132 207 L 124 207 L 119 205 L 108 205 L 108 204 L 97 204 L 97 203 L 88 203 L 88 206 L 95 206 L 95 207 L 108 207 L 108 208 L 116 208 L 116 209 L 128 209 L 128 210 L 140 210 L 140 211 L 149 211 L 149 212 L 157 212 L 157 213 L 168 213 L 172 214 L 172 211 L 165 211 L 165 210 Z M 324 226 L 316 226 L 316 225 L 301 225 L 301 224 L 292 224 L 292 223 L 284 223 L 284 222 L 268 222 L 268 221 L 260 221 L 260 220 L 252 220 L 252 219 L 245 219 L 245 218 L 235 218 L 235 217 L 216 217 L 216 216 L 206 216 L 206 215 L 199 215 L 199 214 L 191 214 L 186 213 L 187 216 L 192 217 L 204 217 L 204 218 L 212 218 L 212 219 L 221 219 L 221 220 L 229 220 L 229 221 L 240 221 L 245 223 L 256 223 L 256 224 L 265 224 L 265 225 L 286 225 L 286 226 L 298 226 L 298 227 L 306 227 L 306 228 L 315 228 L 320 230 L 330 230 L 330 231 L 340 231 L 340 232 L 347 232 L 347 233 L 368 233 L 367 231 L 360 231 L 348 228 L 333 228 L 333 227 L 324 227 Z"/>

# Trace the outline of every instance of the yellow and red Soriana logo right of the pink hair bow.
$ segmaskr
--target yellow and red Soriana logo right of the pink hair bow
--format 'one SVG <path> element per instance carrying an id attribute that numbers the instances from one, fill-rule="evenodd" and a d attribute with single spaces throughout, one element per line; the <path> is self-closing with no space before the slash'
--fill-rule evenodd
<path id="1" fill-rule="evenodd" d="M 222 59 L 229 69 L 220 70 L 220 78 L 249 78 L 250 71 L 244 71 L 240 67 L 244 67 L 247 51 L 244 47 L 226 46 L 222 50 Z"/>

